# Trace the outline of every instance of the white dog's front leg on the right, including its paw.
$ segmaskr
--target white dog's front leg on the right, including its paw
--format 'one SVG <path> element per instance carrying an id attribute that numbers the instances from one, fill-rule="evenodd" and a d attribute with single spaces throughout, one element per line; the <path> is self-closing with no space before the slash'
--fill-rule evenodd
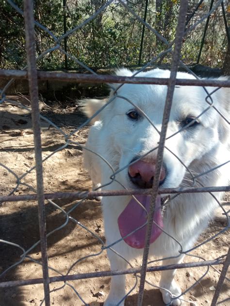
<path id="1" fill-rule="evenodd" d="M 169 264 L 180 263 L 183 258 L 184 255 L 181 255 L 179 258 L 164 260 L 163 264 L 169 265 Z M 166 290 L 160 289 L 160 291 L 162 293 L 163 301 L 167 305 L 181 305 L 181 300 L 172 299 L 172 297 L 174 298 L 176 296 L 181 295 L 181 288 L 178 286 L 178 284 L 174 279 L 176 271 L 177 270 L 165 270 L 162 271 L 161 274 L 160 287 L 165 288 Z"/>

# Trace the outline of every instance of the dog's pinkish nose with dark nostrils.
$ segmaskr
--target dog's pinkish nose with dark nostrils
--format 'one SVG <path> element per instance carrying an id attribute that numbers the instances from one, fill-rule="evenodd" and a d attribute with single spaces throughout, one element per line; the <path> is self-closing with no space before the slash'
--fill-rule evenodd
<path id="1" fill-rule="evenodd" d="M 131 182 L 140 188 L 151 188 L 155 175 L 156 165 L 154 163 L 139 160 L 129 167 L 129 177 Z M 161 169 L 160 183 L 164 183 L 166 175 L 165 167 Z"/>

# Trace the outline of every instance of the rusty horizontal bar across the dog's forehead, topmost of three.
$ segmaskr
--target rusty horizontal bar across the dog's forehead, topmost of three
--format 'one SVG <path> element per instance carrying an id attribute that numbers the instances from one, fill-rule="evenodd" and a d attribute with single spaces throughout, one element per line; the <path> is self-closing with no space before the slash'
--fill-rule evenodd
<path id="1" fill-rule="evenodd" d="M 23 70 L 0 70 L 0 78 L 12 77 L 15 79 L 28 79 L 27 71 Z M 159 77 L 139 77 L 139 76 L 112 76 L 112 75 L 93 75 L 67 72 L 48 72 L 38 71 L 39 80 L 58 80 L 64 82 L 77 83 L 128 83 L 128 84 L 156 84 L 168 85 L 168 78 Z M 176 85 L 181 86 L 212 86 L 212 87 L 230 87 L 230 80 L 216 79 L 177 79 Z"/>

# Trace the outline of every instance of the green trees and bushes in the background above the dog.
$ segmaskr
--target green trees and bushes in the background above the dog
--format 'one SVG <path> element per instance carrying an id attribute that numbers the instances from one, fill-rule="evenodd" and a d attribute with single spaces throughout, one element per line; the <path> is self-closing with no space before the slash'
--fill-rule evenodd
<path id="1" fill-rule="evenodd" d="M 15 3 L 22 9 L 21 0 Z M 63 8 L 62 0 L 34 0 L 35 19 L 51 31 L 56 37 L 64 33 L 64 14 L 66 15 L 66 31 L 81 25 L 103 5 L 105 0 L 66 0 Z M 191 14 L 198 0 L 190 3 Z M 145 0 L 127 1 L 132 10 L 144 17 Z M 178 21 L 179 0 L 148 1 L 148 24 L 172 42 L 175 39 Z M 189 28 L 209 10 L 205 2 L 187 25 Z M 23 18 L 5 0 L 0 10 L 0 68 L 20 69 L 26 65 L 25 35 Z M 205 22 L 185 37 L 181 58 L 186 64 L 197 61 Z M 95 19 L 74 31 L 67 37 L 67 52 L 73 58 L 89 67 L 135 66 L 138 65 L 143 25 L 127 11 L 119 2 L 113 2 Z M 46 31 L 35 27 L 37 56 L 54 46 L 54 41 Z M 61 42 L 64 49 L 64 41 Z M 221 66 L 227 48 L 223 16 L 220 9 L 210 18 L 205 44 L 200 63 L 210 66 Z M 156 35 L 145 28 L 141 63 L 146 63 L 166 49 Z M 159 59 L 157 63 L 169 63 L 170 54 Z M 78 69 L 79 64 L 68 58 L 68 69 Z M 38 61 L 39 69 L 64 69 L 65 57 L 56 50 Z"/>

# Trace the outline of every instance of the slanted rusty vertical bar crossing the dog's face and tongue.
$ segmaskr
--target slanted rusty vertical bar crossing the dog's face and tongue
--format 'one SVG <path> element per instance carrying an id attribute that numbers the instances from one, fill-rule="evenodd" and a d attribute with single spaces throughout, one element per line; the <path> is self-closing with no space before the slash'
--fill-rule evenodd
<path id="1" fill-rule="evenodd" d="M 152 222 L 153 222 L 153 217 L 154 217 L 154 208 L 155 208 L 155 202 L 157 199 L 159 181 L 160 181 L 160 172 L 161 172 L 161 167 L 163 163 L 164 143 L 165 143 L 165 138 L 166 138 L 167 125 L 169 122 L 173 93 L 174 93 L 174 89 L 176 86 L 177 71 L 178 71 L 178 66 L 180 62 L 182 38 L 184 34 L 187 7 L 188 7 L 188 0 L 181 1 L 181 6 L 180 6 L 180 11 L 179 11 L 179 16 L 178 16 L 177 33 L 176 33 L 176 39 L 175 39 L 175 47 L 174 47 L 173 59 L 172 59 L 172 66 L 171 66 L 171 72 L 170 72 L 170 77 L 169 77 L 167 95 L 165 99 L 161 136 L 160 136 L 158 153 L 157 153 L 156 174 L 154 175 L 151 204 L 150 204 L 149 213 L 148 213 L 146 241 L 145 241 L 145 248 L 143 252 L 140 287 L 139 287 L 139 294 L 138 294 L 138 300 L 137 300 L 138 306 L 142 306 L 142 302 L 143 302 L 145 279 L 146 279 L 147 264 L 148 264 L 148 252 L 149 252 L 149 245 L 150 245 Z"/>

